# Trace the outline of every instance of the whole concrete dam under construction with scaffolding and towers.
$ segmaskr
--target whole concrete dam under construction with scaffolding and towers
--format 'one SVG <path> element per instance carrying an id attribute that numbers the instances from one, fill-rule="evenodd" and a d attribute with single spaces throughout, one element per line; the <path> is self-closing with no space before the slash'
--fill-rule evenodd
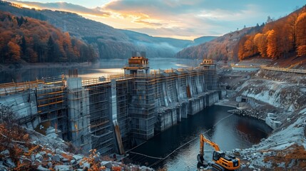
<path id="1" fill-rule="evenodd" d="M 133 56 L 124 70 L 89 80 L 71 71 L 69 76 L 3 83 L 0 105 L 10 106 L 28 129 L 71 142 L 84 153 L 96 149 L 110 155 L 124 154 L 221 95 L 209 60 L 195 68 L 150 71 L 145 55 Z"/>

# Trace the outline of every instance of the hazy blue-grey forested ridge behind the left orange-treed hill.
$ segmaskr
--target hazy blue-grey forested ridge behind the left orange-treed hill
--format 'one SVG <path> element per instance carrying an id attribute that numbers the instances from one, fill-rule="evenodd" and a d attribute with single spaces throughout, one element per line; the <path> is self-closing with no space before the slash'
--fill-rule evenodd
<path id="1" fill-rule="evenodd" d="M 67 3 L 61 4 L 76 6 Z M 56 7 L 58 3 L 46 5 Z M 76 7 L 86 10 L 82 6 Z M 132 51 L 146 51 L 148 58 L 173 57 L 180 49 L 195 44 L 194 41 L 153 37 L 136 31 L 116 29 L 65 11 L 17 8 L 5 1 L 0 1 L 0 10 L 9 11 L 16 16 L 29 16 L 34 19 L 48 21 L 53 26 L 61 28 L 62 31 L 68 31 L 71 36 L 76 36 L 90 43 L 97 51 L 99 58 L 129 58 Z M 207 40 L 204 38 L 203 41 Z M 196 42 L 200 43 L 199 40 Z"/>

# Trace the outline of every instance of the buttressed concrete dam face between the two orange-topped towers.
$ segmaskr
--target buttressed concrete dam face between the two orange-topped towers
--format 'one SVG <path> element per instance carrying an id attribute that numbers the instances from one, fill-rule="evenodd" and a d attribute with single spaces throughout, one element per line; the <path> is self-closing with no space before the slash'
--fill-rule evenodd
<path id="1" fill-rule="evenodd" d="M 197 73 L 163 73 L 163 79 L 155 85 L 155 131 L 166 130 L 182 118 L 195 115 L 218 102 L 219 90 L 208 90 L 208 87 L 214 89 L 214 86 L 217 86 L 215 77 L 215 71 L 210 70 L 200 70 Z"/>

